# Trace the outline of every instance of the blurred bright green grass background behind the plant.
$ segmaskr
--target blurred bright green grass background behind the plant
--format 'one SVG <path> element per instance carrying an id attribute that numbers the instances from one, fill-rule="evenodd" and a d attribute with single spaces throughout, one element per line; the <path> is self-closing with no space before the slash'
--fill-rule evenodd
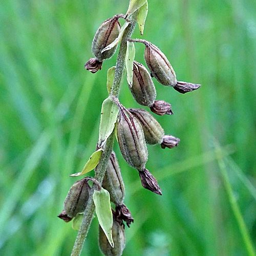
<path id="1" fill-rule="evenodd" d="M 128 2 L 2 1 L 1 255 L 70 255 L 76 231 L 56 216 L 75 181 L 69 175 L 95 148 L 116 55 L 94 75 L 83 65 L 99 25 Z M 181 139 L 173 150 L 148 146 L 162 197 L 141 188 L 115 143 L 135 218 L 123 255 L 255 255 L 255 1 L 148 2 L 142 38 L 165 53 L 178 80 L 202 87 L 181 95 L 154 80 L 157 99 L 175 113 L 156 118 Z M 145 63 L 143 50 L 136 45 Z M 120 101 L 139 106 L 126 81 Z M 95 218 L 82 255 L 101 255 L 97 230 Z"/>

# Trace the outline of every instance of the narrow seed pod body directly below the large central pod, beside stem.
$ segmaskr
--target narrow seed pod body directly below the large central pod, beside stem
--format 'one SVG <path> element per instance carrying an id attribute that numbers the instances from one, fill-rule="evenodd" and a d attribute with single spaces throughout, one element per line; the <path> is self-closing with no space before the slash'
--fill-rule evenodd
<path id="1" fill-rule="evenodd" d="M 124 198 L 124 184 L 114 151 L 111 153 L 102 187 L 109 191 L 110 201 L 114 204 L 122 204 Z"/>

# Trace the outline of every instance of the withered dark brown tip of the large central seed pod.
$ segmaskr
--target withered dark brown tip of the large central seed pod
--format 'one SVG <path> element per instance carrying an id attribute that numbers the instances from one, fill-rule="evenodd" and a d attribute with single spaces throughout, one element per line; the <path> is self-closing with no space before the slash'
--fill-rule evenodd
<path id="1" fill-rule="evenodd" d="M 144 168 L 143 170 L 139 170 L 141 184 L 144 188 L 151 190 L 157 195 L 162 195 L 162 190 L 160 189 L 156 178 L 148 171 L 148 169 Z"/>

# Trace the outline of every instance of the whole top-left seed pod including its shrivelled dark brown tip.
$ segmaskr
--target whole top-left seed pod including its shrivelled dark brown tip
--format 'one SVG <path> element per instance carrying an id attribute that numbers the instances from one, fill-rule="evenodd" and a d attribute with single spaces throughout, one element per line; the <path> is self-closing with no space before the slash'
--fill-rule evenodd
<path id="1" fill-rule="evenodd" d="M 118 21 L 119 16 L 116 15 L 112 18 L 106 19 L 97 30 L 93 43 L 92 43 L 92 52 L 95 58 L 91 58 L 84 67 L 92 73 L 101 70 L 102 61 L 104 59 L 111 58 L 117 46 L 113 47 L 108 51 L 101 51 L 108 45 L 110 45 L 119 35 L 120 32 L 120 23 Z"/>

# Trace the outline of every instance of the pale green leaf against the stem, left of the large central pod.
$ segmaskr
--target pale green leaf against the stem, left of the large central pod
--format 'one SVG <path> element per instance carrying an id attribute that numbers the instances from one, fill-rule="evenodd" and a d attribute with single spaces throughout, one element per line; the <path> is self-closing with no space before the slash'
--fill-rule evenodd
<path id="1" fill-rule="evenodd" d="M 106 98 L 102 103 L 98 147 L 102 147 L 114 130 L 117 120 L 118 108 L 111 97 Z"/>

